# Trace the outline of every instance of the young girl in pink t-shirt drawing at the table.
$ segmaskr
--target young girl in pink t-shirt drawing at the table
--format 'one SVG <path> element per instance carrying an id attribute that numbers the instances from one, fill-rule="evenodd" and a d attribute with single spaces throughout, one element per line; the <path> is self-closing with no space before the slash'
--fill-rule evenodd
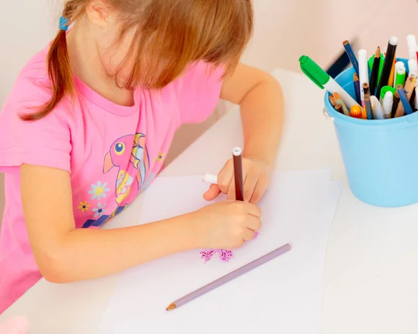
<path id="1" fill-rule="evenodd" d="M 56 38 L 0 114 L 0 312 L 42 277 L 98 278 L 254 237 L 283 105 L 276 80 L 238 63 L 252 15 L 251 0 L 66 1 Z M 219 96 L 241 106 L 246 202 L 98 229 L 153 181 L 179 126 L 206 119 Z M 231 161 L 204 197 L 220 192 L 233 199 Z"/>

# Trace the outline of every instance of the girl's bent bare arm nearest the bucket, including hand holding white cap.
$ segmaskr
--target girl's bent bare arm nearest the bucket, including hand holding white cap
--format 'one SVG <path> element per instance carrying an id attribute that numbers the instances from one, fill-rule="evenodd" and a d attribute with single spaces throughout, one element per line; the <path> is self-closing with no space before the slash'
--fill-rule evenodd
<path id="1" fill-rule="evenodd" d="M 281 87 L 268 73 L 240 64 L 235 73 L 224 80 L 221 98 L 241 107 L 244 199 L 257 204 L 270 183 L 281 137 L 284 119 Z M 218 184 L 211 185 L 203 197 L 211 201 L 220 192 L 234 198 L 232 160 L 219 172 Z"/>

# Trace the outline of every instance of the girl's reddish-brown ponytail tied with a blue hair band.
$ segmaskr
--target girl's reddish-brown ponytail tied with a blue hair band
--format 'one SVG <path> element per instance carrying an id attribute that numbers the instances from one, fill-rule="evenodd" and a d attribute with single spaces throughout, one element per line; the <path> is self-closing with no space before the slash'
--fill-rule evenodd
<path id="1" fill-rule="evenodd" d="M 23 121 L 36 121 L 47 116 L 59 104 L 65 95 L 74 93 L 74 81 L 68 56 L 66 31 L 70 20 L 75 15 L 74 0 L 67 1 L 60 19 L 59 31 L 52 41 L 47 57 L 48 75 L 52 83 L 52 98 L 40 107 L 40 111 L 33 114 L 22 114 Z"/>

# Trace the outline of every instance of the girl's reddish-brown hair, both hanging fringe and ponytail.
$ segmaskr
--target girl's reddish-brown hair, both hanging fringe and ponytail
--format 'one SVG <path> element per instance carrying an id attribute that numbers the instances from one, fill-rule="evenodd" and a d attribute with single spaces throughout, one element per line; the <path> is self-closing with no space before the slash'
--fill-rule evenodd
<path id="1" fill-rule="evenodd" d="M 88 1 L 66 1 L 62 16 L 70 24 L 76 22 L 84 14 Z M 252 0 L 107 0 L 107 3 L 123 22 L 115 45 L 135 29 L 130 57 L 121 64 L 121 68 L 132 66 L 123 83 L 127 89 L 139 85 L 161 89 L 187 65 L 200 60 L 224 66 L 228 75 L 238 64 L 253 31 Z M 22 115 L 25 121 L 42 119 L 64 96 L 74 95 L 65 31 L 56 34 L 47 63 L 52 98 L 39 112 Z M 117 77 L 116 73 L 116 82 Z"/>

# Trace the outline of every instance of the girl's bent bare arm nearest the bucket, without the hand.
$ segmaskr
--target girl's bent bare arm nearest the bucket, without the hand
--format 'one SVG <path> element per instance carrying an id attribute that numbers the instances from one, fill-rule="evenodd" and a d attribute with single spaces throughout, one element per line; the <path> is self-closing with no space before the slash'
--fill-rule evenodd
<path id="1" fill-rule="evenodd" d="M 221 98 L 241 107 L 244 156 L 273 165 L 284 122 L 279 82 L 262 70 L 239 64 L 224 80 Z"/>

